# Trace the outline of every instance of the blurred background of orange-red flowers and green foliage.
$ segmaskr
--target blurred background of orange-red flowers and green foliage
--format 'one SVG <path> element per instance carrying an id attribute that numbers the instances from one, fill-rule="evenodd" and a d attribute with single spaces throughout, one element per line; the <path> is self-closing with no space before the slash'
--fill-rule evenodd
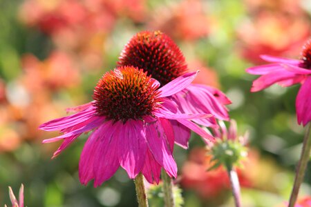
<path id="1" fill-rule="evenodd" d="M 87 135 L 51 160 L 60 143 L 39 124 L 91 101 L 136 32 L 162 30 L 176 41 L 197 82 L 223 90 L 249 159 L 241 168 L 243 206 L 282 206 L 290 195 L 303 127 L 296 123 L 299 86 L 251 93 L 245 68 L 258 55 L 299 58 L 310 37 L 310 0 L 0 0 L 0 206 L 8 186 L 25 186 L 27 206 L 137 206 L 133 181 L 120 169 L 98 188 L 77 175 Z M 200 137 L 176 146 L 176 184 L 184 206 L 232 206 L 226 175 L 206 172 Z M 301 195 L 311 193 L 311 165 Z M 153 204 L 153 206 L 156 206 Z"/>

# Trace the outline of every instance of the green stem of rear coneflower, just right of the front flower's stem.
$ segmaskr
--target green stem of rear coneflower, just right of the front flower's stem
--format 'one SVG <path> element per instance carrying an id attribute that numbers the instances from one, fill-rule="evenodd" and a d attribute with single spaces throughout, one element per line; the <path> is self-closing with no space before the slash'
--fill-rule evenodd
<path id="1" fill-rule="evenodd" d="M 167 175 L 167 172 L 162 170 L 162 181 L 163 181 L 163 193 L 164 193 L 164 206 L 173 207 L 174 204 L 174 195 L 173 195 L 173 181 L 171 177 Z"/>

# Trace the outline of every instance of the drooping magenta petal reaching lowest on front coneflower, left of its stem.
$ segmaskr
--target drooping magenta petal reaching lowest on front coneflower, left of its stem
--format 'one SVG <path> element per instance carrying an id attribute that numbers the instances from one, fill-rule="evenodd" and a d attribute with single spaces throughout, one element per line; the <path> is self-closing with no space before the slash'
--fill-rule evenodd
<path id="1" fill-rule="evenodd" d="M 119 139 L 123 137 L 120 134 L 120 128 L 122 128 L 122 122 L 117 121 L 101 135 L 100 141 L 97 141 L 97 150 L 93 152 L 95 154 L 95 187 L 100 186 L 104 181 L 110 179 L 120 166 L 117 153 L 120 147 L 118 146 L 120 143 Z"/>

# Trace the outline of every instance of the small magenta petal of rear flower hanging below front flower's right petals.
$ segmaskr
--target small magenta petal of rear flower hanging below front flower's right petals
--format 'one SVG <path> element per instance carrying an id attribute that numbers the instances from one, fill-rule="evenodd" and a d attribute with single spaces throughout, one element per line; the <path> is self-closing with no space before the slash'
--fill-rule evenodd
<path id="1" fill-rule="evenodd" d="M 176 120 L 169 120 L 171 122 L 171 126 L 173 127 L 174 135 L 175 135 L 175 143 L 181 146 L 182 148 L 187 149 L 189 139 L 191 137 L 191 130 L 186 126 L 180 124 Z"/>

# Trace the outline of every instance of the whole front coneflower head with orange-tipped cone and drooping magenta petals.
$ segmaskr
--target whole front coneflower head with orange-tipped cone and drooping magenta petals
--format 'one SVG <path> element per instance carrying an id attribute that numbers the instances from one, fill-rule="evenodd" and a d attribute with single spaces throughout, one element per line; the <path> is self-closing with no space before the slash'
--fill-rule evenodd
<path id="1" fill-rule="evenodd" d="M 79 111 L 74 115 L 48 121 L 39 127 L 64 133 L 44 143 L 64 139 L 55 157 L 79 135 L 93 130 L 79 161 L 82 184 L 95 179 L 94 186 L 100 186 L 120 166 L 131 179 L 142 172 L 150 183 L 159 182 L 161 168 L 170 177 L 176 177 L 172 152 L 177 137 L 169 120 L 176 120 L 207 140 L 214 139 L 191 121 L 211 115 L 182 114 L 176 103 L 167 99 L 189 86 L 195 77 L 196 72 L 186 73 L 159 88 L 156 79 L 133 66 L 106 72 L 95 87 L 94 101 L 71 108 Z"/>

